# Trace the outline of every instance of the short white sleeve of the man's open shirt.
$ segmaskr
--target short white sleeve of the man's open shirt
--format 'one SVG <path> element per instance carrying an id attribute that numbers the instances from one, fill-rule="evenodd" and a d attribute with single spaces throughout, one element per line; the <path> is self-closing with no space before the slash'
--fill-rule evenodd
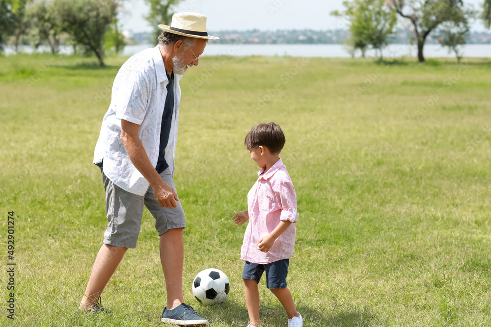
<path id="1" fill-rule="evenodd" d="M 117 118 L 141 125 L 148 107 L 151 89 L 149 83 L 148 74 L 145 74 L 145 72 L 138 70 L 128 76 L 126 83 L 120 86 L 125 88 L 125 92 L 118 93 L 125 96 L 117 99 Z"/>

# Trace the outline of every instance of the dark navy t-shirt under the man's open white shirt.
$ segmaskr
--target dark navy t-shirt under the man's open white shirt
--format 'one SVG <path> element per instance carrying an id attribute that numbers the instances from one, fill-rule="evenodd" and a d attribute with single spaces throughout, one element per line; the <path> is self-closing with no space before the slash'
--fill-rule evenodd
<path id="1" fill-rule="evenodd" d="M 167 74 L 167 72 L 165 72 Z M 160 130 L 160 150 L 157 160 L 157 173 L 162 173 L 169 165 L 165 161 L 165 147 L 169 142 L 170 126 L 172 124 L 172 114 L 174 113 L 174 73 L 169 77 L 167 74 L 167 97 L 165 98 L 164 114 L 162 115 L 162 127 Z"/>

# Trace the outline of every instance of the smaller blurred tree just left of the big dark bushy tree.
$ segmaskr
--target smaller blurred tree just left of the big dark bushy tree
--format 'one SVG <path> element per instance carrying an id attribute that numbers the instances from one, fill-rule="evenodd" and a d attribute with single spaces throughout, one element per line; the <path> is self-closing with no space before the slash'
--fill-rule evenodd
<path id="1" fill-rule="evenodd" d="M 58 53 L 61 28 L 54 1 L 34 0 L 27 4 L 26 19 L 30 22 L 29 39 L 37 47 L 45 41 L 53 54 Z"/>

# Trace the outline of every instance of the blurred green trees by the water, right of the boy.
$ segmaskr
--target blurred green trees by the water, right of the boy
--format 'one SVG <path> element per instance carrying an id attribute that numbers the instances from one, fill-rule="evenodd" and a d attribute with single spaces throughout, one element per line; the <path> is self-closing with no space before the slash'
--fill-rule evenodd
<path id="1" fill-rule="evenodd" d="M 346 44 L 352 55 L 360 50 L 364 56 L 371 47 L 378 50 L 380 60 L 398 18 L 412 30 L 419 62 L 425 61 L 423 48 L 430 33 L 436 33 L 436 40 L 454 51 L 460 61 L 460 46 L 469 37 L 472 20 L 482 19 L 488 29 L 491 24 L 491 0 L 484 0 L 481 11 L 462 0 L 351 0 L 343 1 L 343 5 L 344 11 L 331 15 L 347 20 L 351 35 Z"/>

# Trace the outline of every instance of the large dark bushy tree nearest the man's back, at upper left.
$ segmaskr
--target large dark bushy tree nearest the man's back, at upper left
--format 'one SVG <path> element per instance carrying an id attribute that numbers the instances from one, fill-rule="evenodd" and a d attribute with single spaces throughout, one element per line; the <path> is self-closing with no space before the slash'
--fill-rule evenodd
<path id="1" fill-rule="evenodd" d="M 94 52 L 104 66 L 104 37 L 116 17 L 116 0 L 54 0 L 59 26 L 75 46 Z"/>

